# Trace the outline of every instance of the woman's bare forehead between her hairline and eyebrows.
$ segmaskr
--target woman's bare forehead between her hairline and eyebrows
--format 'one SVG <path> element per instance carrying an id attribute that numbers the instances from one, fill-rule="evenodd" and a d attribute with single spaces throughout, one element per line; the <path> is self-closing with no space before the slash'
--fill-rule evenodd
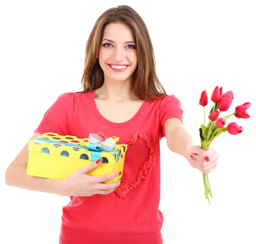
<path id="1" fill-rule="evenodd" d="M 110 23 L 105 26 L 105 30 L 102 35 L 103 39 L 111 39 L 115 42 L 118 41 L 129 41 L 134 39 L 131 29 L 123 23 Z"/>

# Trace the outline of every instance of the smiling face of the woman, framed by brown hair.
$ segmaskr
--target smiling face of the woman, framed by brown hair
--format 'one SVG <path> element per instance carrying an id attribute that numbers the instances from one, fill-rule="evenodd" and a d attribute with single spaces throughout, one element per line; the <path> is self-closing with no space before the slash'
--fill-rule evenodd
<path id="1" fill-rule="evenodd" d="M 133 79 L 133 73 L 138 65 L 135 42 L 132 31 L 125 24 L 110 23 L 105 27 L 99 50 L 99 64 L 104 71 L 105 81 Z M 117 64 L 117 67 L 114 64 Z"/>

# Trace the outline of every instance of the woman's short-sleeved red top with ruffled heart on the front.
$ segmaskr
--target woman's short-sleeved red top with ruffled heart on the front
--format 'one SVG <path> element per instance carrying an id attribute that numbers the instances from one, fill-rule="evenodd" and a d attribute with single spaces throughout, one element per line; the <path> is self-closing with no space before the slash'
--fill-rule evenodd
<path id="1" fill-rule="evenodd" d="M 94 91 L 64 93 L 44 114 L 35 131 L 103 140 L 119 137 L 127 144 L 122 184 L 107 195 L 70 196 L 63 207 L 61 244 L 162 244 L 160 203 L 160 148 L 167 119 L 183 120 L 180 101 L 166 96 L 144 102 L 130 120 L 114 123 L 98 111 Z M 115 109 L 115 108 L 113 108 Z"/>

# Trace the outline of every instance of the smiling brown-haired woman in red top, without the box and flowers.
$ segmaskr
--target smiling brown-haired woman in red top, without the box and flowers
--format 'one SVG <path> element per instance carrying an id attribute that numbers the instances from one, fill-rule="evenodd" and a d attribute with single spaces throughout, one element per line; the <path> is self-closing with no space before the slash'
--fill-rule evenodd
<path id="1" fill-rule="evenodd" d="M 166 137 L 170 150 L 203 173 L 215 169 L 218 154 L 194 145 L 183 128 L 180 101 L 168 96 L 157 78 L 148 30 L 136 11 L 129 6 L 105 11 L 85 56 L 84 91 L 58 96 L 31 139 L 46 132 L 96 133 L 102 140 L 117 136 L 118 144 L 128 145 L 123 182 L 101 183 L 119 172 L 87 174 L 102 159 L 65 179 L 27 176 L 26 144 L 6 170 L 6 184 L 70 196 L 63 207 L 60 244 L 162 244 L 160 140 Z"/>

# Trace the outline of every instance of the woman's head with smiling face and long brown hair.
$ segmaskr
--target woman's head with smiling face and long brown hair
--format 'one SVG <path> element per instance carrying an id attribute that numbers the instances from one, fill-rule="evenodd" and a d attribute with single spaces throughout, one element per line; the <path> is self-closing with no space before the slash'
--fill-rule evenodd
<path id="1" fill-rule="evenodd" d="M 119 81 L 129 84 L 137 100 L 154 101 L 167 95 L 156 74 L 148 29 L 131 7 L 105 11 L 93 27 L 85 52 L 84 91 L 79 93 Z"/>

